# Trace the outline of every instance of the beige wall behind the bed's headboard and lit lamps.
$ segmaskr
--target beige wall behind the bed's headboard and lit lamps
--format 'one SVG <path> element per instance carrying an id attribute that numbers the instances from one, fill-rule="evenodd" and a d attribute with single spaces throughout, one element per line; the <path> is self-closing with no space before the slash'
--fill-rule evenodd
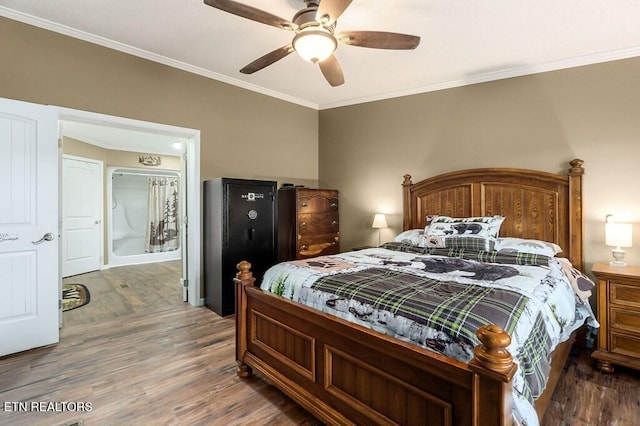
<path id="1" fill-rule="evenodd" d="M 565 172 L 585 161 L 587 266 L 608 261 L 604 218 L 634 225 L 640 264 L 640 58 L 320 112 L 320 185 L 340 190 L 341 246 L 377 243 L 375 212 L 402 228 L 402 176 L 475 167 Z"/>

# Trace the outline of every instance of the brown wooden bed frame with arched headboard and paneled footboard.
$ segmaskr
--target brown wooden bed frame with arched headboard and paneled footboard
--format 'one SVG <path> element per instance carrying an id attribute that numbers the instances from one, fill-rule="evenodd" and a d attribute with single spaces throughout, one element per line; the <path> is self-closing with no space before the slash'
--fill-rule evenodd
<path id="1" fill-rule="evenodd" d="M 500 236 L 552 241 L 582 269 L 582 160 L 566 175 L 523 169 L 473 169 L 413 184 L 406 175 L 403 229 L 426 215 L 506 217 Z M 475 358 L 461 363 L 418 346 L 263 292 L 250 264 L 236 283 L 238 375 L 255 370 L 327 424 L 507 425 L 517 366 L 509 336 L 482 327 Z M 542 419 L 573 339 L 553 355 Z"/>

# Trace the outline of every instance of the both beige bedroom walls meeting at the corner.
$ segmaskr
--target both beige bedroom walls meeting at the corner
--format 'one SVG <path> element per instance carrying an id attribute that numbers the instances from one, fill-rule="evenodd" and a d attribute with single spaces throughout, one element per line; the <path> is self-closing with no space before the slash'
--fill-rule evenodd
<path id="1" fill-rule="evenodd" d="M 564 172 L 585 160 L 586 261 L 607 213 L 640 222 L 640 59 L 317 111 L 0 18 L 0 97 L 201 130 L 201 174 L 341 194 L 342 247 L 400 230 L 402 175 L 469 167 Z M 640 228 L 627 259 L 640 264 Z M 588 266 L 587 265 L 587 266 Z"/>

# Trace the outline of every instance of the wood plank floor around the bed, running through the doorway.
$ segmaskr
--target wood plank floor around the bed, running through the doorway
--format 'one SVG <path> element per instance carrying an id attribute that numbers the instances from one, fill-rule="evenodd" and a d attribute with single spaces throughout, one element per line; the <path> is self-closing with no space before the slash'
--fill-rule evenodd
<path id="1" fill-rule="evenodd" d="M 64 313 L 58 345 L 0 359 L 0 425 L 320 425 L 259 377 L 236 376 L 233 317 L 183 303 L 179 273 L 166 262 L 65 279 L 91 302 Z M 574 353 L 541 423 L 640 424 L 639 388 L 640 373 L 602 374 Z M 20 402 L 57 406 L 14 411 Z M 63 410 L 70 402 L 91 411 Z"/>

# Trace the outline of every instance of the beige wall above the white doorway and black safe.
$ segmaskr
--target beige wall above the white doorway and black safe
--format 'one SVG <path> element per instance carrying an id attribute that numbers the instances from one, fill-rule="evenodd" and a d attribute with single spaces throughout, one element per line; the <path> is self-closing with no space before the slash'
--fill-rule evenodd
<path id="1" fill-rule="evenodd" d="M 2 17 L 0 40 L 0 97 L 198 129 L 203 180 L 317 184 L 313 109 Z"/>

